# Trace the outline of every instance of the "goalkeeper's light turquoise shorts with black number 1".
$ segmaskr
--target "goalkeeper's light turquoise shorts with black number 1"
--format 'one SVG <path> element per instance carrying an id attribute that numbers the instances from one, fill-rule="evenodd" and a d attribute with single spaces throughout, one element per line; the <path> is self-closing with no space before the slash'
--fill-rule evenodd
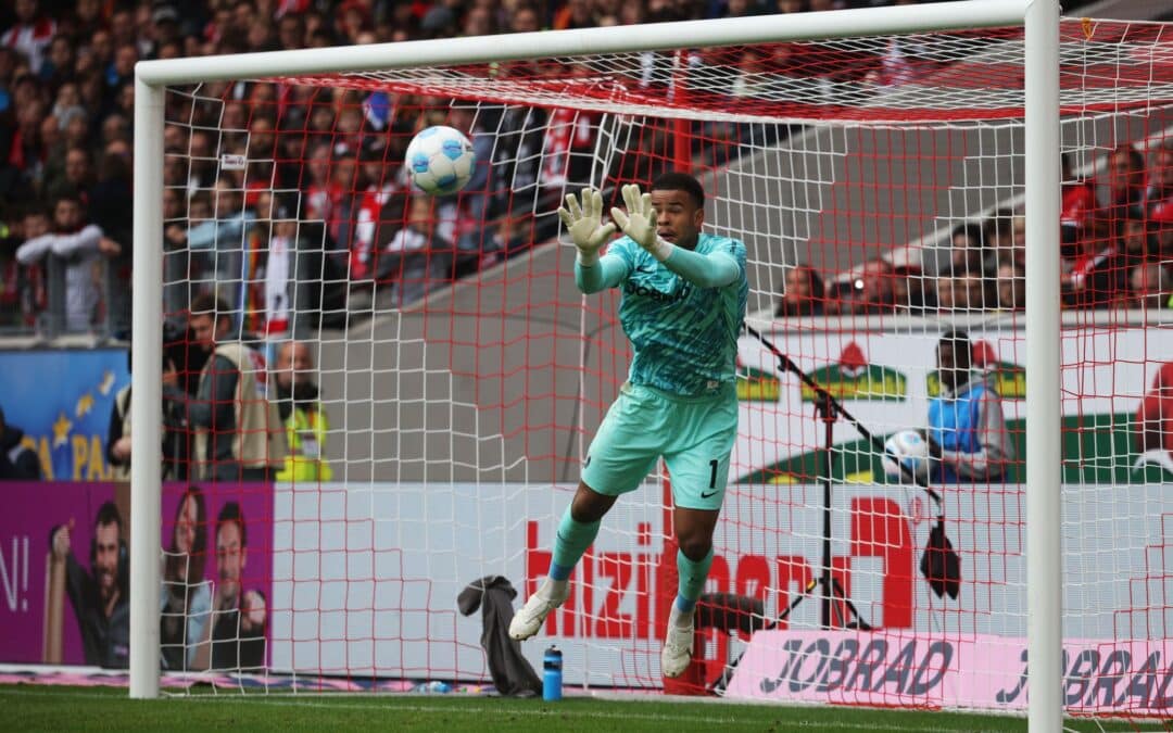
<path id="1" fill-rule="evenodd" d="M 586 452 L 583 483 L 606 496 L 626 494 L 664 456 L 677 507 L 720 509 L 737 421 L 733 384 L 700 398 L 624 384 Z"/>

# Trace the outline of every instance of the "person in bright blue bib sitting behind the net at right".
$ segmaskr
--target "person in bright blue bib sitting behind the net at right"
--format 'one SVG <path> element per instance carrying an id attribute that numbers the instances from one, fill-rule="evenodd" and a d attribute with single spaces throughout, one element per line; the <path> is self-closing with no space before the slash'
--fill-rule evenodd
<path id="1" fill-rule="evenodd" d="M 949 331 L 937 344 L 941 394 L 929 400 L 931 482 L 999 481 L 1013 459 L 1002 398 L 971 368 L 964 331 Z"/>

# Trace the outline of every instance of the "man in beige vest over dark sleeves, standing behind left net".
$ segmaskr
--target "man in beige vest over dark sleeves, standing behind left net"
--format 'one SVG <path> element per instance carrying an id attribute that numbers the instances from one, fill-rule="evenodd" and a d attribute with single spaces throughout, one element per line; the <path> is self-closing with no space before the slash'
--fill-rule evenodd
<path id="1" fill-rule="evenodd" d="M 164 387 L 164 399 L 185 406 L 195 430 L 194 475 L 219 481 L 266 481 L 284 464 L 287 449 L 280 416 L 263 394 L 260 355 L 239 341 L 228 304 L 202 294 L 191 304 L 190 327 L 211 358 L 199 374 L 194 400 L 177 387 Z"/>

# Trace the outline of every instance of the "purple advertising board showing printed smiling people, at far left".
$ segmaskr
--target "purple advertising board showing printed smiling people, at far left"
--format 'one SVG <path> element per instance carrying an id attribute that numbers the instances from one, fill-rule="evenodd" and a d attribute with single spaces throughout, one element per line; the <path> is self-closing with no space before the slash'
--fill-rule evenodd
<path id="1" fill-rule="evenodd" d="M 0 513 L 0 661 L 126 666 L 128 548 L 134 542 L 129 487 L 5 482 L 4 491 L 8 501 Z M 161 596 L 164 604 L 171 599 L 162 615 L 164 667 L 192 668 L 201 638 L 228 640 L 229 634 L 251 643 L 205 644 L 211 651 L 205 664 L 267 664 L 272 510 L 270 484 L 163 487 Z M 50 537 L 62 527 L 69 529 L 69 542 L 56 565 L 63 582 L 54 595 Z"/>

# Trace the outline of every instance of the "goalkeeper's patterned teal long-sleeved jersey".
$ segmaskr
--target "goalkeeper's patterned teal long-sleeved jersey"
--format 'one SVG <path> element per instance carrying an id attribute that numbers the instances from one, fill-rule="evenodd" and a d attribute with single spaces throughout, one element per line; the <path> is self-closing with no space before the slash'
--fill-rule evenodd
<path id="1" fill-rule="evenodd" d="M 626 267 L 617 283 L 608 278 L 608 284 L 623 291 L 619 323 L 635 349 L 628 375 L 633 385 L 700 396 L 737 379 L 737 340 L 750 294 L 745 245 L 700 233 L 693 252 L 733 257 L 738 278 L 724 287 L 698 287 L 630 237 L 613 242 L 603 258 L 618 258 Z"/>

